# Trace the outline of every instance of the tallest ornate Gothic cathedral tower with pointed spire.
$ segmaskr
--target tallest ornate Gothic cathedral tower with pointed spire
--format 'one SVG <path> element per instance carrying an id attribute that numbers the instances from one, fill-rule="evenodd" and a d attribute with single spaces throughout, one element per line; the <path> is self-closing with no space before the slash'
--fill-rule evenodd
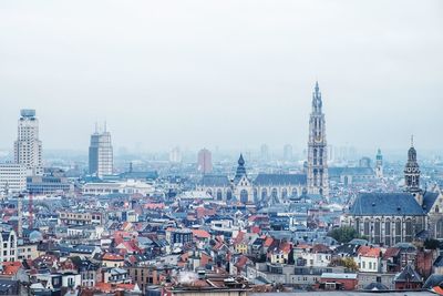
<path id="1" fill-rule="evenodd" d="M 312 112 L 309 119 L 308 141 L 308 193 L 329 196 L 328 147 L 321 93 L 316 82 L 312 93 Z"/>

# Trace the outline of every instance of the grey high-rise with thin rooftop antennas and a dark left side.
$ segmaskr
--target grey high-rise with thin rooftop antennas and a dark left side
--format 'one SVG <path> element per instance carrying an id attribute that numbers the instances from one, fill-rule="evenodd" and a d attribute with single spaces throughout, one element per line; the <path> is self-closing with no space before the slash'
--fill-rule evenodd
<path id="1" fill-rule="evenodd" d="M 111 133 L 106 131 L 106 125 L 102 133 L 95 127 L 91 135 L 90 144 L 90 174 L 103 177 L 111 175 L 114 167 L 114 156 L 111 142 Z"/>

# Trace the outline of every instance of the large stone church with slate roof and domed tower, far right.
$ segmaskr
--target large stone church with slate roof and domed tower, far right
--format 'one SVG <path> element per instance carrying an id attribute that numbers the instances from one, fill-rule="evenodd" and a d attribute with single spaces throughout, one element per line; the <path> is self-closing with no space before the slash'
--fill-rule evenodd
<path id="1" fill-rule="evenodd" d="M 413 145 L 404 169 L 405 192 L 363 193 L 353 202 L 346 221 L 371 243 L 391 246 L 413 242 L 421 234 L 443 238 L 440 205 L 443 194 L 420 188 L 420 169 Z"/>

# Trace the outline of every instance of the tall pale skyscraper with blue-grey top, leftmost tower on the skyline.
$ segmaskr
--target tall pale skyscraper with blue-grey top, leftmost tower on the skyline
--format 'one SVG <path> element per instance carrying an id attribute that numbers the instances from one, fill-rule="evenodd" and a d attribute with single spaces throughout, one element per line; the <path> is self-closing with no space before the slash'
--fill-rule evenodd
<path id="1" fill-rule="evenodd" d="M 39 140 L 39 120 L 35 118 L 35 110 L 20 111 L 14 162 L 23 164 L 28 175 L 43 174 L 42 143 Z"/>

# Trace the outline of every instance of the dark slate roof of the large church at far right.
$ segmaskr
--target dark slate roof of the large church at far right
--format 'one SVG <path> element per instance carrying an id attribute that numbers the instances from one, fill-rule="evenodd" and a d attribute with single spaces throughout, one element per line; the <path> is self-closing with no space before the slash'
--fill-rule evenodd
<path id="1" fill-rule="evenodd" d="M 424 215 L 422 207 L 410 193 L 362 193 L 350 208 L 356 216 L 368 215 Z"/>

